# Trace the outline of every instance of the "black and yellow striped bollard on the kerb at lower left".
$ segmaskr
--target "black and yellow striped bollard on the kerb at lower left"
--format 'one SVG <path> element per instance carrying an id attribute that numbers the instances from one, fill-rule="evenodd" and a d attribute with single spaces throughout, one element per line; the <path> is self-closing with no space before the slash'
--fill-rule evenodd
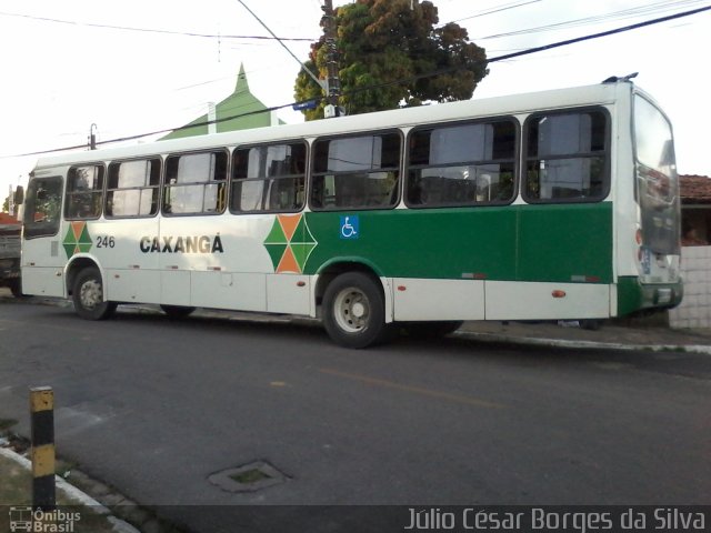
<path id="1" fill-rule="evenodd" d="M 54 495 L 54 392 L 51 386 L 30 389 L 32 414 L 32 506 L 51 510 Z"/>

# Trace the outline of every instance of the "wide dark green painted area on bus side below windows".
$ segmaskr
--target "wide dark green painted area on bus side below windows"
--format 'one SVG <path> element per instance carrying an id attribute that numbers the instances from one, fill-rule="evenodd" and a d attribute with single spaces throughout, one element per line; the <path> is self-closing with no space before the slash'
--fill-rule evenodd
<path id="1" fill-rule="evenodd" d="M 472 212 L 475 211 L 475 215 Z M 358 220 L 344 239 L 344 217 Z M 392 278 L 612 282 L 612 204 L 307 213 L 312 274 L 342 257 Z"/>

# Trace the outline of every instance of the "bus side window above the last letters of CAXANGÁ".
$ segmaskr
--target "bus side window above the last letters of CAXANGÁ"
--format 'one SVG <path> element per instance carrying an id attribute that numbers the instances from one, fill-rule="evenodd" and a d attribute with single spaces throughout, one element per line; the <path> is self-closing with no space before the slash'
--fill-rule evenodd
<path id="1" fill-rule="evenodd" d="M 226 208 L 227 152 L 171 155 L 166 160 L 163 213 L 219 214 Z"/>

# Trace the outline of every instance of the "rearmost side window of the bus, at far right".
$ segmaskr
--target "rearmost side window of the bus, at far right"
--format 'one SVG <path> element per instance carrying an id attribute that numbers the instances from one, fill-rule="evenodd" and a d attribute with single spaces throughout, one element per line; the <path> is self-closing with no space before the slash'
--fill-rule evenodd
<path id="1" fill-rule="evenodd" d="M 589 202 L 610 190 L 608 114 L 573 111 L 535 114 L 525 123 L 530 202 Z"/>

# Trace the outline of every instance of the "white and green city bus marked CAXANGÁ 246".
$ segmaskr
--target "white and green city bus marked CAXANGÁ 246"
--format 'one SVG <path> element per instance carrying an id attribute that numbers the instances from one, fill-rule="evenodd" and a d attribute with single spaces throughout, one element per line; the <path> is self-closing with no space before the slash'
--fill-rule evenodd
<path id="1" fill-rule="evenodd" d="M 682 298 L 672 127 L 631 81 L 40 159 L 22 291 L 401 326 L 601 320 Z"/>

